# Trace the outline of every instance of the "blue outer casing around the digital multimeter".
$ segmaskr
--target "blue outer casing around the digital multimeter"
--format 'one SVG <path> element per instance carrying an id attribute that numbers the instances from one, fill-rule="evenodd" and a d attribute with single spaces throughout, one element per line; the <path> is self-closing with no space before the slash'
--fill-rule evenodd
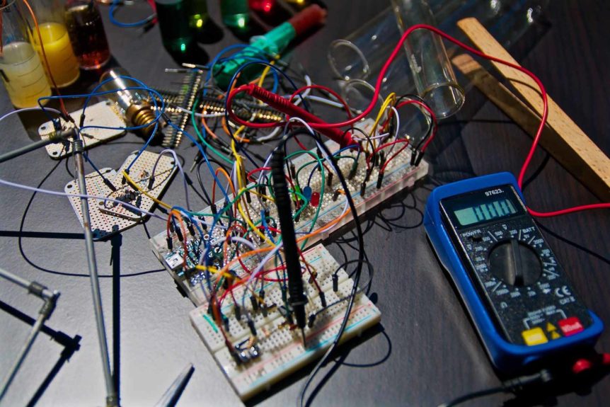
<path id="1" fill-rule="evenodd" d="M 489 302 L 481 298 L 481 290 L 472 280 L 473 271 L 469 265 L 464 265 L 464 257 L 460 256 L 459 250 L 456 249 L 455 238 L 451 239 L 452 232 L 444 224 L 441 205 L 442 200 L 480 190 L 491 191 L 498 185 L 512 186 L 514 192 L 524 202 L 517 180 L 511 173 L 495 173 L 461 180 L 432 190 L 426 203 L 424 227 L 440 262 L 454 280 L 493 365 L 501 372 L 510 373 L 517 372 L 531 362 L 558 352 L 572 348 L 592 347 L 604 330 L 604 324 L 595 314 L 588 311 L 591 319 L 588 326 L 571 336 L 563 336 L 538 345 L 520 345 L 506 339 L 506 334 L 498 326 L 495 316 L 490 314 Z"/>

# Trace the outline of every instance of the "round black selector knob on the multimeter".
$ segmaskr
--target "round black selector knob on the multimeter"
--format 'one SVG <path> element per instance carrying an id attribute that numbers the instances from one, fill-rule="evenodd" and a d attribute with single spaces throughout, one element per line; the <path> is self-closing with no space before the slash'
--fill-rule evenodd
<path id="1" fill-rule="evenodd" d="M 517 239 L 497 243 L 489 253 L 489 264 L 495 277 L 517 287 L 534 284 L 542 274 L 538 254 Z"/>

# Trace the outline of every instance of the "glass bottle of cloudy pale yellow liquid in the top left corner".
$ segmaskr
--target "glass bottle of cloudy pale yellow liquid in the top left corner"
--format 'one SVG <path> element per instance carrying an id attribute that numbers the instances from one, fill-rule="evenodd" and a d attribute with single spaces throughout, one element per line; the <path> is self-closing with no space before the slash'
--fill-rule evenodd
<path id="1" fill-rule="evenodd" d="M 16 108 L 32 108 L 38 105 L 38 98 L 51 95 L 51 88 L 40 64 L 40 57 L 30 43 L 28 25 L 15 1 L 8 1 L 6 6 L 0 7 L 0 13 L 2 81 Z"/>

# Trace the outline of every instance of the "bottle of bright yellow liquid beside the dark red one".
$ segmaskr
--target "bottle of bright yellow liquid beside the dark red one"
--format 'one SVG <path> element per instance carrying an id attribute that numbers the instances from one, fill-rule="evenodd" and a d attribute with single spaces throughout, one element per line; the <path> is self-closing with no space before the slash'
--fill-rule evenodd
<path id="1" fill-rule="evenodd" d="M 42 37 L 42 45 L 45 47 L 47 62 L 51 69 L 51 74 L 58 88 L 64 88 L 74 84 L 81 74 L 79 70 L 79 60 L 74 55 L 66 23 L 64 22 L 64 5 L 61 0 L 28 0 L 30 6 L 34 10 L 34 14 L 38 20 L 38 28 L 40 29 L 40 37 Z M 25 16 L 30 16 L 30 13 L 24 10 Z M 42 55 L 40 47 L 40 38 L 38 31 L 35 28 L 35 23 L 31 17 L 30 36 L 32 43 L 42 59 L 42 64 L 45 67 L 47 76 L 49 72 L 45 64 L 45 59 Z M 50 78 L 49 78 L 50 80 Z"/>

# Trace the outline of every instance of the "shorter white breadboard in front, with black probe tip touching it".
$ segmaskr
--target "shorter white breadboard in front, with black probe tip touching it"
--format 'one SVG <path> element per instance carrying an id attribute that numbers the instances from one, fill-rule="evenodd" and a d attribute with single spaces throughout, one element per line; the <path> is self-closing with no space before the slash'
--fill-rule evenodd
<path id="1" fill-rule="evenodd" d="M 207 304 L 203 304 L 190 313 L 192 326 L 195 327 L 242 400 L 269 389 L 275 382 L 321 357 L 338 334 L 345 316 L 347 300 L 333 306 L 330 304 L 340 299 L 347 299 L 354 282 L 341 268 L 337 273 L 338 290 L 333 291 L 332 276 L 338 270 L 339 264 L 321 244 L 306 251 L 304 257 L 310 268 L 318 273 L 318 284 L 325 293 L 326 302 L 329 305 L 316 316 L 313 326 L 305 328 L 306 347 L 303 345 L 301 331 L 298 328 L 291 331 L 285 324 L 286 319 L 280 313 L 280 306 L 283 302 L 280 285 L 277 282 L 269 282 L 265 285 L 265 305 L 272 307 L 267 316 L 263 315 L 260 308 L 258 311 L 254 311 L 248 297 L 241 306 L 243 289 L 234 292 L 238 306 L 241 307 L 241 319 L 236 318 L 235 307 L 230 295 L 225 297 L 222 304 L 221 311 L 229 319 L 229 331 L 226 332 L 229 340 L 234 345 L 247 343 L 247 345 L 243 345 L 243 352 L 248 359 L 246 362 L 237 363 L 236 359 L 231 356 L 219 327 L 214 323 L 213 317 L 207 314 Z M 306 275 L 304 275 L 304 285 L 309 300 L 306 305 L 306 314 L 310 316 L 321 311 L 321 300 L 318 290 L 308 282 Z M 253 316 L 257 331 L 255 339 L 246 323 L 244 309 L 247 309 Z M 357 294 L 341 340 L 360 335 L 362 331 L 379 323 L 380 320 L 379 309 L 364 293 Z M 226 326 L 226 323 L 224 325 Z M 254 350 L 252 350 L 253 347 Z"/>

